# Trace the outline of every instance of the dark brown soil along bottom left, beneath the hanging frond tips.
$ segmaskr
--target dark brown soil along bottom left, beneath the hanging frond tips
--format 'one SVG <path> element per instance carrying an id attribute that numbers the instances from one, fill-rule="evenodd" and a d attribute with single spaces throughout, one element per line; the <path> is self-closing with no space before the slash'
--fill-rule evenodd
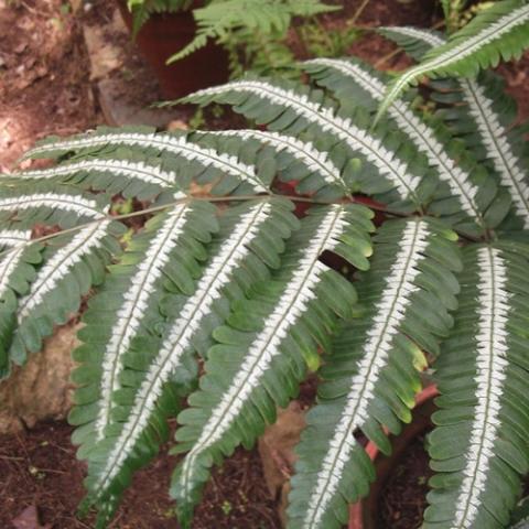
<path id="1" fill-rule="evenodd" d="M 0 527 L 13 527 L 12 520 L 30 506 L 36 507 L 43 528 L 93 527 L 94 517 L 75 517 L 84 496 L 85 464 L 75 457 L 71 433 L 72 427 L 51 422 L 24 434 L 0 438 Z M 168 496 L 177 458 L 168 454 L 168 447 L 137 473 L 109 529 L 177 529 L 174 504 Z M 257 451 L 237 450 L 214 471 L 193 529 L 250 527 L 277 529 L 280 525 Z"/>

